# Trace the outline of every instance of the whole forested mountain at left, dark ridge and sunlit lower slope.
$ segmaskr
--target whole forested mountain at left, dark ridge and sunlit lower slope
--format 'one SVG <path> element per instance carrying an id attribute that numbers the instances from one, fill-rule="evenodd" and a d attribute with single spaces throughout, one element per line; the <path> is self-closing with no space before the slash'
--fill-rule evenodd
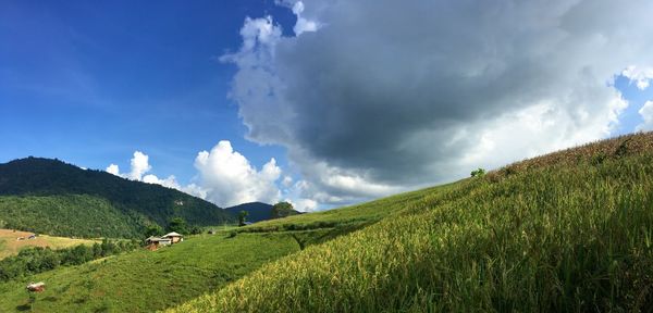
<path id="1" fill-rule="evenodd" d="M 165 227 L 235 221 L 217 205 L 176 189 L 82 170 L 59 160 L 26 158 L 0 164 L 0 226 L 78 237 L 139 237 Z"/>

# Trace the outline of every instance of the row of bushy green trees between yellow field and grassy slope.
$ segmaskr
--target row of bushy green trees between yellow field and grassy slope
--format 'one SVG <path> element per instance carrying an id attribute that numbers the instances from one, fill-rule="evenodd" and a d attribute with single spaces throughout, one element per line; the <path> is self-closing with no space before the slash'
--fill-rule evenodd
<path id="1" fill-rule="evenodd" d="M 17 255 L 0 260 L 0 281 L 8 281 L 54 270 L 59 266 L 79 265 L 88 261 L 132 251 L 140 247 L 137 240 L 102 240 L 93 246 L 79 245 L 52 250 L 48 247 L 23 249 Z"/>

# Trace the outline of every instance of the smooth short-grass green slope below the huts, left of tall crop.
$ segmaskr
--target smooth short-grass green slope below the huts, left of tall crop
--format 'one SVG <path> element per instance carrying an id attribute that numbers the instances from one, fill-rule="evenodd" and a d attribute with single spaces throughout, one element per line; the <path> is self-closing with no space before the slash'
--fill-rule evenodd
<path id="1" fill-rule="evenodd" d="M 28 309 L 28 280 L 47 284 L 34 312 L 152 312 L 221 288 L 298 250 L 287 234 L 192 237 L 155 252 L 138 250 L 0 284 L 0 312 Z"/>

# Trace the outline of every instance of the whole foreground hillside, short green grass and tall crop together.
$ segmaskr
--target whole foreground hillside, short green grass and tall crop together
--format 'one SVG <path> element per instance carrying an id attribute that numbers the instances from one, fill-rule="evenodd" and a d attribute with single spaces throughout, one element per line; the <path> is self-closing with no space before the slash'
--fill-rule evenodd
<path id="1" fill-rule="evenodd" d="M 0 312 L 41 280 L 34 312 L 646 311 L 652 161 L 652 134 L 601 141 L 3 283 Z"/>

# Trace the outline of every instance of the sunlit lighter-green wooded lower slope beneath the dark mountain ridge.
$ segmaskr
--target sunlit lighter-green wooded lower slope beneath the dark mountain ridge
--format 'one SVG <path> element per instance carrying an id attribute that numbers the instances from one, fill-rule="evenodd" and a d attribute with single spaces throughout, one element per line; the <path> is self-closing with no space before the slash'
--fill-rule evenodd
<path id="1" fill-rule="evenodd" d="M 109 201 L 88 195 L 0 196 L 0 220 L 51 235 L 137 237 L 141 227 Z"/>

